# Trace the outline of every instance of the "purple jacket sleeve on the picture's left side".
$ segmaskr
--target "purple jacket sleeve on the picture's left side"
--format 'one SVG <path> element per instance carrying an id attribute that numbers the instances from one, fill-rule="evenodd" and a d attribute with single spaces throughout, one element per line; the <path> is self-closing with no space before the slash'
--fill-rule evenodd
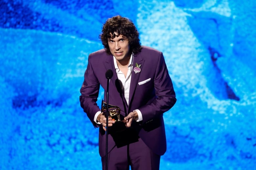
<path id="1" fill-rule="evenodd" d="M 93 123 L 94 127 L 98 127 L 98 125 L 94 121 L 94 116 L 97 111 L 100 111 L 99 107 L 96 104 L 100 84 L 93 69 L 94 68 L 92 66 L 92 56 L 89 55 L 88 65 L 84 73 L 84 82 L 80 89 L 81 95 L 79 99 L 81 107 Z"/>

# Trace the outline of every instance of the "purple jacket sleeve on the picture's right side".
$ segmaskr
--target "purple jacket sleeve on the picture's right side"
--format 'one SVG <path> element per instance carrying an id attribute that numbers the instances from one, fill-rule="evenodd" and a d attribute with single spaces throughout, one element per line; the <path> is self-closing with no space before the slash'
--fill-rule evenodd
<path id="1" fill-rule="evenodd" d="M 154 88 L 155 99 L 138 108 L 142 113 L 143 124 L 171 109 L 177 100 L 162 52 L 156 67 Z"/>

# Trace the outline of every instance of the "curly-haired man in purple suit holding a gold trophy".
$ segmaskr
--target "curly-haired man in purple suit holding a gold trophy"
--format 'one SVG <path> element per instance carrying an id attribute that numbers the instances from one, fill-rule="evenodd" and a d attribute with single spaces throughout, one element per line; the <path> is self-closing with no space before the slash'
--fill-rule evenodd
<path id="1" fill-rule="evenodd" d="M 108 169 L 157 170 L 166 151 L 163 113 L 176 102 L 162 52 L 141 46 L 131 20 L 115 16 L 102 27 L 104 49 L 89 55 L 81 87 L 80 103 L 95 127 L 99 127 L 99 154 L 105 169 L 106 126 Z M 96 104 L 100 85 L 105 90 L 107 70 L 109 104 L 120 108 L 121 121 L 106 117 Z M 118 125 L 118 126 L 117 126 Z"/>

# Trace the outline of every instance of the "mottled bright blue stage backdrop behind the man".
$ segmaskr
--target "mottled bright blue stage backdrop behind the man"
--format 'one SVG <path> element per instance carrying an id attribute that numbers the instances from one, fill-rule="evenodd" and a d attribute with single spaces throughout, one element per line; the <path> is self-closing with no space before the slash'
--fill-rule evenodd
<path id="1" fill-rule="evenodd" d="M 79 89 L 117 14 L 163 52 L 174 83 L 160 169 L 256 169 L 255 9 L 254 0 L 1 0 L 0 169 L 101 168 Z"/>

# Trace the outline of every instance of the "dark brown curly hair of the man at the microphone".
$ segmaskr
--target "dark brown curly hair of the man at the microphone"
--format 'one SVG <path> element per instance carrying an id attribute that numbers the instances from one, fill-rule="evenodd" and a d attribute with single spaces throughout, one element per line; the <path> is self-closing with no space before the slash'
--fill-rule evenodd
<path id="1" fill-rule="evenodd" d="M 114 34 L 114 32 L 116 32 L 117 35 Z M 101 39 L 107 54 L 111 54 L 108 45 L 108 39 L 113 39 L 119 35 L 123 35 L 128 39 L 130 49 L 134 54 L 141 51 L 139 32 L 136 26 L 130 19 L 118 15 L 109 18 L 106 23 L 103 24 L 101 34 L 99 35 L 99 38 Z"/>

